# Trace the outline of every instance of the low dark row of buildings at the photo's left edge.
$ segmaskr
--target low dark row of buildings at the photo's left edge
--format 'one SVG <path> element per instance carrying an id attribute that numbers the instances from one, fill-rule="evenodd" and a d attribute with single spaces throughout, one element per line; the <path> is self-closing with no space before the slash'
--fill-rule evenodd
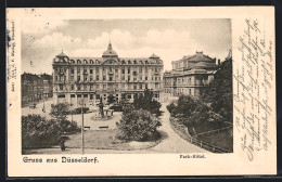
<path id="1" fill-rule="evenodd" d="M 22 104 L 53 96 L 53 78 L 48 74 L 22 74 Z"/>

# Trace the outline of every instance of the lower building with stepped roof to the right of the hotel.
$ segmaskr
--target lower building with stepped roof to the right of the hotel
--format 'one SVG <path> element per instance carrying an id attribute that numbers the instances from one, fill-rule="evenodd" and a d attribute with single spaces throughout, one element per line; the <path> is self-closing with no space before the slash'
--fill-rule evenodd
<path id="1" fill-rule="evenodd" d="M 214 79 L 220 60 L 218 63 L 216 62 L 216 58 L 211 58 L 203 52 L 174 61 L 172 70 L 164 74 L 165 95 L 185 94 L 198 98 L 203 89 Z"/>

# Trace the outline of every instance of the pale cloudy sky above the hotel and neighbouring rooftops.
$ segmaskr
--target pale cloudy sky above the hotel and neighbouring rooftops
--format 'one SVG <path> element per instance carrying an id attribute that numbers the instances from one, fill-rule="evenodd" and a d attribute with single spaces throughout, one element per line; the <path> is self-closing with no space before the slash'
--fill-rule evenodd
<path id="1" fill-rule="evenodd" d="M 73 57 L 101 57 L 111 41 L 119 57 L 171 61 L 196 51 L 225 60 L 231 48 L 231 21 L 217 20 L 56 20 L 22 22 L 22 73 L 52 74 L 63 52 Z"/>

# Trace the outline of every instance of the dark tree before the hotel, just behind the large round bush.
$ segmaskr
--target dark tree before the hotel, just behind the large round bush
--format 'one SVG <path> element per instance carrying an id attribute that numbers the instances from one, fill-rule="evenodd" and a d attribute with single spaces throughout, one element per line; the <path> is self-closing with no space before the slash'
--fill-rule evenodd
<path id="1" fill-rule="evenodd" d="M 149 89 L 144 90 L 144 96 L 140 95 L 139 98 L 134 99 L 133 106 L 137 109 L 142 108 L 149 110 L 152 114 L 156 114 L 156 116 L 161 115 L 159 108 L 162 107 L 162 104 L 153 99 L 153 92 Z"/>

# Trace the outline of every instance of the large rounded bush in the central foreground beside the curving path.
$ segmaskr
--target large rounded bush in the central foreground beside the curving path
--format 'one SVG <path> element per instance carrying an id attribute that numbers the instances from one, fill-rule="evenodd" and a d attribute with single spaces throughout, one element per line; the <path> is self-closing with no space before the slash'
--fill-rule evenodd
<path id="1" fill-rule="evenodd" d="M 127 106 L 123 110 L 120 123 L 117 123 L 117 139 L 127 142 L 156 140 L 161 136 L 156 131 L 159 126 L 159 120 L 150 112 Z"/>

